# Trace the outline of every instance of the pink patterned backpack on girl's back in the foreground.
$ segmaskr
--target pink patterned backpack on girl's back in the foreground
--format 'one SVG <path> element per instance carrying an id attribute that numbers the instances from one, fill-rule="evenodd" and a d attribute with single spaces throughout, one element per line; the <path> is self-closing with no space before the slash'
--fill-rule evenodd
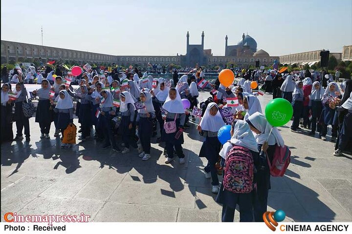
<path id="1" fill-rule="evenodd" d="M 247 148 L 233 146 L 227 153 L 222 184 L 232 193 L 246 194 L 253 190 L 253 156 Z"/>

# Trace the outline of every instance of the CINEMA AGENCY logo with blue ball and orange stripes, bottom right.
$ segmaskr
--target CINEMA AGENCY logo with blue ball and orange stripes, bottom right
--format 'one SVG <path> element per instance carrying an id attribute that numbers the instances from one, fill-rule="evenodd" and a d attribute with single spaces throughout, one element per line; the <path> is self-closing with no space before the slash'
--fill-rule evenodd
<path id="1" fill-rule="evenodd" d="M 286 214 L 282 210 L 276 212 L 265 212 L 263 220 L 266 226 L 275 232 L 279 222 L 283 221 Z M 349 225 L 342 224 L 282 224 L 279 227 L 281 232 L 347 232 Z"/>

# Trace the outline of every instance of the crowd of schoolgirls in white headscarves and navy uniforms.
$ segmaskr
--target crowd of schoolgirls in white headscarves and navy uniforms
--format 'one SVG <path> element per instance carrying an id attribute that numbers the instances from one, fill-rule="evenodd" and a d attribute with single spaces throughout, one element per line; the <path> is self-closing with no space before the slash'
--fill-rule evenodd
<path id="1" fill-rule="evenodd" d="M 159 125 L 160 137 L 157 139 L 165 142 L 167 157 L 165 163 L 172 163 L 174 155 L 177 155 L 179 163 L 183 164 L 185 163 L 182 149 L 183 131 L 187 129 L 190 121 L 196 122 L 194 116 L 185 112 L 181 99 L 187 98 L 191 107 L 198 107 L 199 93 L 195 81 L 196 77 L 184 75 L 173 87 L 170 80 L 156 79 L 147 73 L 142 78 L 131 73 L 110 80 L 96 75 L 91 79 L 83 76 L 79 87 L 73 89 L 72 86 L 63 84 L 61 77 L 56 77 L 53 87 L 43 79 L 42 88 L 33 91 L 33 95 L 39 98 L 36 122 L 41 129 L 41 138 L 50 138 L 52 121 L 56 129 L 55 136 L 63 134 L 68 124 L 73 122 L 75 111 L 81 125 L 79 140 L 87 140 L 94 126 L 94 138 L 103 141 L 102 148 L 111 147 L 113 151 L 122 154 L 137 148 L 138 156 L 142 160 L 148 160 L 152 157 L 151 137 L 158 135 L 156 131 Z M 278 129 L 272 127 L 262 114 L 258 94 L 252 93 L 248 81 L 241 79 L 236 86 L 224 87 L 216 80 L 212 86 L 216 92 L 212 90 L 211 97 L 199 103 L 203 111 L 197 126 L 199 134 L 204 137 L 199 156 L 208 160 L 204 168 L 205 177 L 211 179 L 211 191 L 218 194 L 216 200 L 222 204 L 222 221 L 234 220 L 236 205 L 240 207 L 240 221 L 263 221 L 270 189 L 269 164 L 273 160 L 276 148 L 285 146 L 284 139 Z M 311 79 L 306 77 L 302 81 L 294 82 L 289 75 L 280 87 L 282 97 L 291 101 L 294 109 L 291 129 L 299 130 L 299 118 L 302 113 L 311 116 L 305 118 L 302 124 L 311 126 L 313 133 L 321 121 L 324 121 L 324 124 L 320 124 L 318 131 L 324 137 L 327 134 L 327 125 L 334 125 L 333 136 L 337 136 L 339 129 L 336 144 L 336 152 L 339 155 L 348 150 L 352 139 L 350 80 L 342 83 L 340 88 L 344 92 L 343 95 L 334 82 L 329 83 L 328 89 L 324 91 L 318 81 L 312 83 Z M 12 90 L 10 84 L 2 86 L 1 128 L 7 134 L 3 135 L 4 131 L 1 131 L 1 142 L 10 138 L 12 140 L 12 136 L 8 136 L 10 132 L 12 133 L 12 124 L 7 121 L 6 115 L 12 105 L 9 90 Z M 19 107 L 21 104 L 17 104 L 25 100 L 26 96 L 21 78 L 16 84 L 15 93 L 18 95 L 15 109 L 17 108 L 17 112 L 20 113 L 17 117 L 19 120 L 16 120 L 18 129 L 15 140 L 23 139 L 22 126 L 25 128 L 26 140 L 30 140 L 28 119 L 23 120 Z M 226 98 L 232 97 L 238 98 L 239 105 L 231 106 L 234 120 L 231 123 L 227 122 L 231 124 L 231 139 L 221 146 L 218 131 L 226 123 L 220 115 L 220 109 L 226 108 L 228 105 Z M 328 100 L 324 102 L 327 97 Z M 78 100 L 76 110 L 72 98 Z M 136 103 L 142 103 L 142 108 Z M 111 127 L 111 120 L 117 115 L 121 117 L 118 129 L 123 133 L 122 149 L 116 142 L 116 132 Z M 62 144 L 61 147 L 68 149 L 71 145 Z M 336 152 L 335 155 L 339 156 Z M 234 164 L 231 160 L 236 156 L 246 160 L 241 164 Z M 223 168 L 220 188 L 217 169 L 219 159 Z"/>

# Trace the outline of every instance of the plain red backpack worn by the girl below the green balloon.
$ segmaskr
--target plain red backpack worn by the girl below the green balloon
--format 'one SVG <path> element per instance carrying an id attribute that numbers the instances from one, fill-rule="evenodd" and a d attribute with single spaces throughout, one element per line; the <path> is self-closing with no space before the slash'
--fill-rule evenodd
<path id="1" fill-rule="evenodd" d="M 275 177 L 284 176 L 286 168 L 291 161 L 290 156 L 291 151 L 288 146 L 285 145 L 284 147 L 281 147 L 276 145 L 272 163 L 270 163 L 269 157 L 266 156 L 270 169 L 270 175 Z"/>

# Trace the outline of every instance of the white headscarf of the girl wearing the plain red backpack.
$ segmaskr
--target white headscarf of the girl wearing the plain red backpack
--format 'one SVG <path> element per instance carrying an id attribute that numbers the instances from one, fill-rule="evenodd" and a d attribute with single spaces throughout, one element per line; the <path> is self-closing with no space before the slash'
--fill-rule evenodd
<path id="1" fill-rule="evenodd" d="M 254 113 L 248 118 L 247 121 L 249 121 L 258 131 L 261 132 L 260 134 L 254 135 L 258 144 L 264 144 L 264 142 L 267 141 L 269 145 L 278 144 L 281 147 L 285 146 L 284 139 L 281 137 L 279 130 L 276 127 L 272 127 L 262 113 Z"/>

